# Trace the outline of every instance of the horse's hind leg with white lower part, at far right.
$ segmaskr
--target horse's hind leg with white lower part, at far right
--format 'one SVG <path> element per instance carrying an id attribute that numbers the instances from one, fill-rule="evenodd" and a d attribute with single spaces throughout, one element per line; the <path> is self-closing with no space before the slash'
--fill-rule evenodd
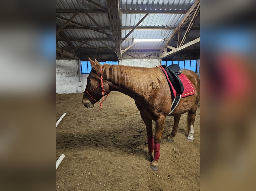
<path id="1" fill-rule="evenodd" d="M 196 119 L 196 111 L 197 111 L 197 105 L 196 103 L 190 111 L 187 113 L 187 130 L 188 130 L 188 136 L 187 136 L 187 141 L 192 142 L 194 140 L 193 134 L 194 134 L 194 122 Z"/>

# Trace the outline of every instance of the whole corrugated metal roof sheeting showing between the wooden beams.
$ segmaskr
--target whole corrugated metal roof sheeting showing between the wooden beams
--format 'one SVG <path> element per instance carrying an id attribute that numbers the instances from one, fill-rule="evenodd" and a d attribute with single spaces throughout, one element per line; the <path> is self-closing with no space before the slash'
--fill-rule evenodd
<path id="1" fill-rule="evenodd" d="M 92 0 L 93 2 L 99 4 L 100 6 L 107 9 L 106 0 Z M 132 9 L 132 10 L 189 10 L 189 8 L 193 5 L 195 0 L 120 0 L 120 9 Z M 57 9 L 102 9 L 99 6 L 90 3 L 86 0 L 56 0 L 56 8 Z M 67 19 L 71 18 L 74 13 L 57 13 L 57 15 L 61 17 L 65 17 Z M 90 16 L 102 27 L 110 27 L 108 14 L 102 13 L 92 13 Z M 143 17 L 145 14 L 121 14 L 121 26 L 124 27 L 134 27 Z M 177 26 L 179 25 L 180 21 L 184 18 L 185 14 L 149 14 L 140 24 L 139 26 L 150 26 L 150 27 L 164 27 L 164 26 Z M 94 27 L 96 24 L 86 16 L 84 13 L 79 13 L 72 21 L 78 22 L 83 24 L 84 26 Z M 62 26 L 65 24 L 66 20 L 60 19 L 56 17 L 56 24 L 58 26 Z M 187 25 L 189 22 L 187 23 Z M 186 26 L 187 26 L 186 25 Z M 70 22 L 67 26 L 80 26 L 75 23 Z M 196 19 L 193 26 L 200 26 L 200 17 Z M 115 44 L 112 41 L 107 41 L 105 39 L 109 39 L 107 35 L 89 30 L 89 29 L 67 29 L 64 28 L 62 30 L 64 34 L 71 38 L 70 42 L 74 46 L 79 46 L 81 42 L 73 41 L 72 38 L 102 38 L 104 44 L 108 45 L 115 49 Z M 107 33 L 112 34 L 111 30 L 105 30 Z M 134 39 L 153 39 L 153 38 L 169 38 L 174 30 L 134 30 L 127 38 L 134 38 Z M 185 29 L 182 30 L 182 37 L 185 33 Z M 121 38 L 125 37 L 130 30 L 121 30 Z M 177 46 L 177 35 L 175 35 L 172 42 L 169 45 L 176 47 Z M 199 30 L 191 30 L 188 34 L 188 39 L 184 42 L 187 43 L 191 41 L 191 39 L 196 39 L 200 36 Z M 82 40 L 81 40 L 82 41 Z M 68 46 L 67 42 L 65 41 L 58 41 L 59 47 Z M 107 49 L 106 45 L 99 41 L 88 41 L 88 44 Z M 122 50 L 125 47 L 128 47 L 132 44 L 131 41 L 124 41 L 121 44 Z M 138 42 L 132 46 L 128 52 L 146 52 L 146 51 L 157 51 L 158 49 L 152 49 L 152 47 L 163 47 L 166 45 L 166 42 Z M 196 46 L 200 46 L 197 44 Z M 83 45 L 82 47 L 90 47 L 88 45 Z M 145 48 L 143 49 L 136 49 L 138 48 Z M 100 50 L 99 50 L 100 51 Z"/>

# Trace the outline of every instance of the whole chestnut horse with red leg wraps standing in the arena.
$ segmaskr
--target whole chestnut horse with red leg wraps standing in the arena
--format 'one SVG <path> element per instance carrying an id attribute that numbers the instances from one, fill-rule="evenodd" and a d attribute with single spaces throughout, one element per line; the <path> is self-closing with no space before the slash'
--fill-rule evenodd
<path id="1" fill-rule="evenodd" d="M 96 102 L 109 92 L 117 90 L 135 100 L 147 129 L 148 153 L 145 159 L 151 161 L 151 169 L 158 170 L 160 157 L 161 136 L 164 129 L 165 117 L 169 114 L 174 97 L 161 67 L 144 68 L 123 65 L 101 65 L 96 59 L 90 58 L 92 70 L 87 78 L 87 85 L 82 103 L 87 108 L 94 107 Z M 194 121 L 200 98 L 200 81 L 197 74 L 191 70 L 182 70 L 195 87 L 195 94 L 181 98 L 178 106 L 168 116 L 174 117 L 174 126 L 167 142 L 172 142 L 176 135 L 181 114 L 187 114 L 188 141 L 193 141 Z M 153 136 L 152 120 L 155 121 Z M 155 150 L 155 151 L 154 151 Z M 153 155 L 154 151 L 154 155 Z"/>

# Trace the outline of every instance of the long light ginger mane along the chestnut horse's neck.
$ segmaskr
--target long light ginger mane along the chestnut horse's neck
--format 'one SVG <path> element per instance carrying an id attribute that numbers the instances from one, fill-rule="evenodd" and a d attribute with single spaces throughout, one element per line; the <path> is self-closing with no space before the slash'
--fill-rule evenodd
<path id="1" fill-rule="evenodd" d="M 140 92 L 150 92 L 160 88 L 160 83 L 165 80 L 165 76 L 159 67 L 144 68 L 124 65 L 104 64 L 103 74 L 110 80 L 110 71 L 112 71 L 112 80 L 116 85 L 123 84 L 128 88 Z"/>

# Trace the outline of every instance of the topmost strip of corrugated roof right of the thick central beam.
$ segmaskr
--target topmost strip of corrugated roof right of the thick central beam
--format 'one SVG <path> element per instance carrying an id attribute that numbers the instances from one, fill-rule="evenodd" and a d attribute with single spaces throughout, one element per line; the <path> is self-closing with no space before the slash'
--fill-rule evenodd
<path id="1" fill-rule="evenodd" d="M 121 9 L 188 10 L 195 0 L 120 0 Z"/>

